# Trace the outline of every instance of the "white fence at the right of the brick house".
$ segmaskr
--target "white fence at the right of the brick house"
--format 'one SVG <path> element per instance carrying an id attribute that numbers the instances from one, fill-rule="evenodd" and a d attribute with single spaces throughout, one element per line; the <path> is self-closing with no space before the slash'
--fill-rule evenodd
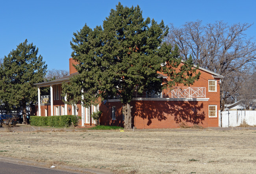
<path id="1" fill-rule="evenodd" d="M 219 111 L 219 116 L 219 127 L 236 127 L 243 120 L 250 126 L 256 125 L 256 111 Z"/>

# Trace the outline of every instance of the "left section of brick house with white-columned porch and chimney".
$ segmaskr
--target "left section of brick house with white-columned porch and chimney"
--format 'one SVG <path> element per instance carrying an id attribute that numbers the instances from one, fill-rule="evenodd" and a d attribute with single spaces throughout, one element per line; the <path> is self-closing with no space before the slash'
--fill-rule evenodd
<path id="1" fill-rule="evenodd" d="M 35 83 L 38 88 L 38 105 L 36 107 L 37 116 L 52 116 L 52 115 L 78 115 L 82 119 L 79 122 L 80 126 L 91 125 L 94 120 L 90 117 L 92 112 L 98 110 L 99 106 L 91 106 L 88 108 L 82 107 L 80 104 L 68 105 L 62 100 L 66 100 L 66 97 L 61 96 L 61 84 L 63 82 L 69 82 L 69 79 L 78 74 L 74 65 L 77 64 L 72 58 L 69 59 L 69 76 L 42 83 Z M 50 95 L 41 96 L 40 88 L 50 87 Z"/>

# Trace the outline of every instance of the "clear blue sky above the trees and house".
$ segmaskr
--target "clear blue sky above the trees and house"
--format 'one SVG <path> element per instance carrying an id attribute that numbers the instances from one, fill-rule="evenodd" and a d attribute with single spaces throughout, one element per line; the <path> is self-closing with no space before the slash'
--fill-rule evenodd
<path id="1" fill-rule="evenodd" d="M 128 7 L 139 5 L 144 18 L 158 23 L 163 19 L 166 25 L 181 26 L 195 20 L 254 23 L 247 35 L 256 36 L 255 0 L 2 0 L 0 58 L 28 39 L 39 48 L 48 69 L 69 70 L 73 33 L 85 23 L 91 28 L 102 25 L 118 2 Z"/>

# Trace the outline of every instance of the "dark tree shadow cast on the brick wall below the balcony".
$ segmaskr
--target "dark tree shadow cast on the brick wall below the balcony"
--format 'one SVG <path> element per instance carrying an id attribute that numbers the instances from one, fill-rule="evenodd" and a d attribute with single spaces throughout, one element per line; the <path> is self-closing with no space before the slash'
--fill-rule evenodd
<path id="1" fill-rule="evenodd" d="M 172 119 L 177 124 L 183 122 L 190 124 L 203 124 L 205 112 L 203 103 L 197 101 L 137 101 L 134 115 L 148 120 L 147 125 L 152 124 L 153 119 L 158 121 Z"/>

